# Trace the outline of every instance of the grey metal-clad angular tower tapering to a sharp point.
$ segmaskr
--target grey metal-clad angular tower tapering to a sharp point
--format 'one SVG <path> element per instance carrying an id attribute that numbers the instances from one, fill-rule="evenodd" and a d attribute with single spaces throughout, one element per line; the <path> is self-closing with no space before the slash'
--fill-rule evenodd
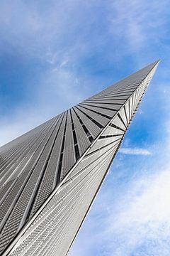
<path id="1" fill-rule="evenodd" d="M 2 255 L 67 255 L 158 63 L 1 146 Z"/>

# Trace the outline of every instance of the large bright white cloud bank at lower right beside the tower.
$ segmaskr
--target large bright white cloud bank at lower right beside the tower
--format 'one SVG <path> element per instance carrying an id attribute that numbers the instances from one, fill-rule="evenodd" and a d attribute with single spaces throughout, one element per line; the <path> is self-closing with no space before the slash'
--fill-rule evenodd
<path id="1" fill-rule="evenodd" d="M 170 171 L 135 180 L 127 192 L 105 223 L 108 255 L 169 255 Z"/>

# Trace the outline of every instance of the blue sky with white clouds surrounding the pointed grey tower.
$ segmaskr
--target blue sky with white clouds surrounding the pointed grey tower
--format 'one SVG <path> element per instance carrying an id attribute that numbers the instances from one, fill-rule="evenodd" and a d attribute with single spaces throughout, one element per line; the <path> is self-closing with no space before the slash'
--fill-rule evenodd
<path id="1" fill-rule="evenodd" d="M 161 59 L 71 256 L 166 256 L 169 0 L 0 3 L 0 145 Z"/>

